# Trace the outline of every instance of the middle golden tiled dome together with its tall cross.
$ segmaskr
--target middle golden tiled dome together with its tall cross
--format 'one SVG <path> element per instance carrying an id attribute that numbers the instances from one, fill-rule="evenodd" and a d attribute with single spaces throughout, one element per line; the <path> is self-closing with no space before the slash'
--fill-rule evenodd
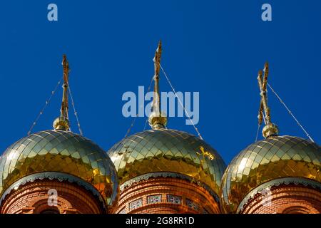
<path id="1" fill-rule="evenodd" d="M 118 174 L 121 190 L 149 177 L 178 177 L 208 190 L 218 199 L 225 163 L 218 152 L 201 138 L 166 128 L 168 118 L 161 110 L 159 72 L 161 41 L 155 53 L 154 93 L 148 123 L 151 130 L 130 135 L 113 145 L 108 155 Z"/>

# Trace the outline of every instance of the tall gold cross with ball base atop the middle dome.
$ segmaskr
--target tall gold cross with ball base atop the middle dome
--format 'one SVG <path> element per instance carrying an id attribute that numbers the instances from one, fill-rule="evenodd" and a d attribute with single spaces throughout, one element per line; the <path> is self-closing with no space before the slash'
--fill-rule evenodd
<path id="1" fill-rule="evenodd" d="M 165 113 L 161 112 L 161 99 L 159 95 L 159 71 L 161 69 L 161 54 L 162 54 L 162 43 L 159 41 L 158 48 L 156 49 L 154 61 L 154 97 L 153 97 L 153 112 L 148 117 L 148 123 L 153 129 L 165 128 L 167 124 L 167 117 Z"/>

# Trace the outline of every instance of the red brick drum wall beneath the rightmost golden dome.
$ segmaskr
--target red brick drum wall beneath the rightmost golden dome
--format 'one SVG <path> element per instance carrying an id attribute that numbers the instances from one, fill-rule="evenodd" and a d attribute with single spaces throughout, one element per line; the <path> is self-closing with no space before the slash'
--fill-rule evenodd
<path id="1" fill-rule="evenodd" d="M 281 185 L 272 187 L 270 203 L 266 197 L 257 194 L 243 207 L 243 214 L 319 214 L 321 213 L 321 192 L 310 187 Z M 263 203 L 263 198 L 265 199 Z"/>

